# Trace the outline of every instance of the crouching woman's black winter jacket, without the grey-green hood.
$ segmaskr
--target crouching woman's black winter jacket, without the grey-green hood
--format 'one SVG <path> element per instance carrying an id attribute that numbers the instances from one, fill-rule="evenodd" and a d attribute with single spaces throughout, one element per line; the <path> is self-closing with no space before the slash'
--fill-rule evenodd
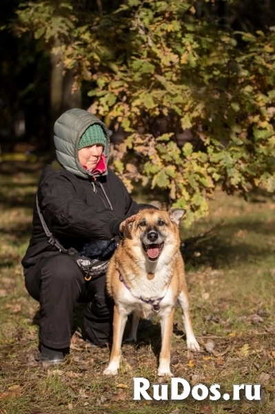
<path id="1" fill-rule="evenodd" d="M 41 213 L 50 231 L 65 248 L 77 250 L 91 240 L 110 240 L 119 236 L 119 225 L 125 218 L 143 208 L 154 208 L 137 204 L 110 168 L 108 175 L 94 181 L 92 177 L 87 179 L 74 175 L 62 166 L 57 169 L 52 165 L 45 166 L 37 195 Z M 59 252 L 48 243 L 34 205 L 32 237 L 22 265 L 29 268 L 41 258 L 55 254 Z"/>

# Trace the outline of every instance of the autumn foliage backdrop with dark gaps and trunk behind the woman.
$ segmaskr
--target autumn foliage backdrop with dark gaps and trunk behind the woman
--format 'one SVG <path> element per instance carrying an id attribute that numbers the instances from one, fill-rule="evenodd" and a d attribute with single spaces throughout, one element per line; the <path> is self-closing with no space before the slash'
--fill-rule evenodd
<path id="1" fill-rule="evenodd" d="M 216 186 L 275 188 L 274 6 L 245 14 L 244 3 L 36 0 L 17 3 L 4 30 L 50 59 L 51 127 L 82 95 L 114 132 L 128 189 L 160 189 L 191 224 Z M 36 75 L 24 93 L 40 85 Z"/>

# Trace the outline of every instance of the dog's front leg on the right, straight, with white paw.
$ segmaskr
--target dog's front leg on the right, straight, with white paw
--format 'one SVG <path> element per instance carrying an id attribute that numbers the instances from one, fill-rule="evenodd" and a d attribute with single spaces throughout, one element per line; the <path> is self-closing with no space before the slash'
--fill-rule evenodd
<path id="1" fill-rule="evenodd" d="M 159 355 L 159 377 L 173 374 L 170 371 L 170 353 L 173 334 L 174 308 L 165 310 L 161 316 L 161 355 Z"/>

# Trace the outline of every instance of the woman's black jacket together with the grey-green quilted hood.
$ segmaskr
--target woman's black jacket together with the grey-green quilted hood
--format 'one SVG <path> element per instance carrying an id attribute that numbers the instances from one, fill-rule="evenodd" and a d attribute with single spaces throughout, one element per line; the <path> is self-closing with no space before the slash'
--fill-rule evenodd
<path id="1" fill-rule="evenodd" d="M 45 166 L 39 181 L 37 197 L 41 213 L 52 234 L 65 248 L 81 250 L 83 244 L 91 240 L 120 236 L 119 225 L 123 220 L 143 208 L 152 208 L 137 204 L 110 168 L 105 174 L 93 177 L 79 164 L 79 139 L 95 122 L 105 131 L 105 155 L 109 159 L 110 138 L 105 125 L 85 110 L 68 110 L 54 125 L 59 163 Z M 59 252 L 48 243 L 34 206 L 32 237 L 22 259 L 23 267 L 29 268 L 53 254 Z"/>

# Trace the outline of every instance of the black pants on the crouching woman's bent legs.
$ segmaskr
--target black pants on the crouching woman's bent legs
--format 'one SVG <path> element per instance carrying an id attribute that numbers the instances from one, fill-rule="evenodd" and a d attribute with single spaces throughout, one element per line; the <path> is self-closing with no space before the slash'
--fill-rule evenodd
<path id="1" fill-rule="evenodd" d="M 77 302 L 87 303 L 83 323 L 88 338 L 99 346 L 108 342 L 113 302 L 105 290 L 105 275 L 85 282 L 79 265 L 62 253 L 41 259 L 24 274 L 28 293 L 40 303 L 41 344 L 57 349 L 70 346 Z"/>

